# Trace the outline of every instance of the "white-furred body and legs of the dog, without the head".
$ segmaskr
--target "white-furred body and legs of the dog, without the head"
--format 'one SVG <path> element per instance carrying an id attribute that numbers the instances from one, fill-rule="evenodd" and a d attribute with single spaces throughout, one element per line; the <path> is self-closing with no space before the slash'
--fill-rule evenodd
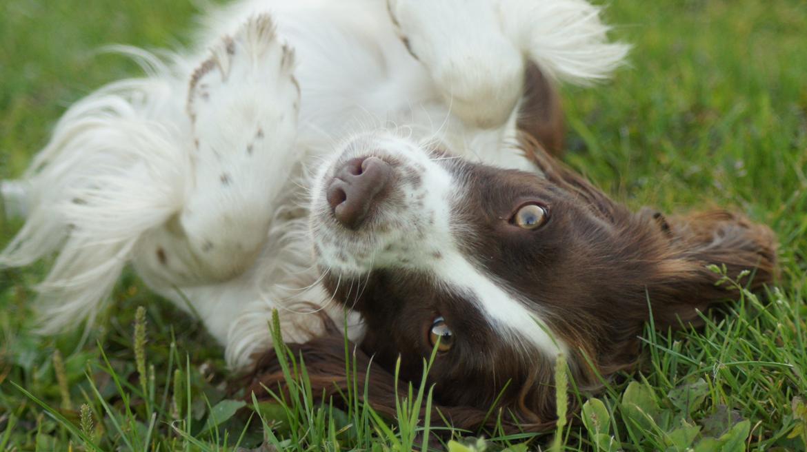
<path id="1" fill-rule="evenodd" d="M 148 77 L 71 106 L 22 185 L 3 185 L 6 204 L 27 200 L 27 222 L 0 265 L 58 253 L 39 288 L 42 330 L 92 321 L 129 262 L 199 314 L 232 367 L 269 344 L 271 309 L 293 340 L 320 328 L 301 301 L 341 325 L 317 284 L 299 188 L 338 143 L 392 126 L 472 160 L 531 168 L 508 145 L 524 58 L 584 83 L 607 77 L 626 52 L 583 0 L 391 0 L 389 10 L 383 0 L 248 0 L 207 17 L 203 50 L 168 64 L 135 51 Z M 189 92 L 207 60 L 214 67 Z M 480 284 L 472 290 L 499 290 Z M 486 308 L 502 323 L 521 315 L 505 302 L 512 309 Z"/>

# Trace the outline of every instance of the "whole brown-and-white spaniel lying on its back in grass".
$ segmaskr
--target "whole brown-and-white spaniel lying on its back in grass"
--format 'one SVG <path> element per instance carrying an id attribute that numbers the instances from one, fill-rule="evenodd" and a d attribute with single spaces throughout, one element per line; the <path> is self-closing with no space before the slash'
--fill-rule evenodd
<path id="1" fill-rule="evenodd" d="M 633 214 L 550 156 L 552 80 L 607 77 L 626 52 L 583 0 L 251 1 L 210 17 L 210 52 L 140 54 L 153 75 L 77 102 L 6 184 L 28 218 L 0 263 L 59 252 L 44 332 L 92 321 L 132 263 L 234 370 L 270 349 L 278 309 L 335 390 L 346 307 L 379 369 L 371 403 L 394 406 L 395 359 L 418 379 L 438 346 L 429 383 L 455 425 L 479 425 L 506 387 L 500 408 L 540 429 L 559 353 L 592 388 L 633 362 L 649 306 L 678 326 L 730 296 L 708 264 L 771 280 L 766 227 Z M 261 366 L 279 381 L 271 355 Z"/>

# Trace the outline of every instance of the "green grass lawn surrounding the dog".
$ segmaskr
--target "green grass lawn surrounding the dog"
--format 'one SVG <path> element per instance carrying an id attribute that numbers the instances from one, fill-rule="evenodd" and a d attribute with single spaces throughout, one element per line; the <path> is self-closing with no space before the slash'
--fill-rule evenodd
<path id="1" fill-rule="evenodd" d="M 607 17 L 621 24 L 614 35 L 635 44 L 632 65 L 596 89 L 564 92 L 570 164 L 634 208 L 719 205 L 770 225 L 780 240 L 780 283 L 759 296 L 739 291 L 729 312 L 707 317 L 700 330 L 669 334 L 649 327 L 640 371 L 589 400 L 557 435 L 489 433 L 478 442 L 476 433 L 464 433 L 459 442 L 431 446 L 454 452 L 805 450 L 802 3 L 614 0 Z M 98 55 L 101 44 L 177 48 L 189 41 L 193 14 L 185 0 L 6 0 L 0 6 L 0 177 L 23 172 L 65 106 L 106 81 L 138 73 L 119 56 Z M 19 226 L 0 225 L 0 245 Z M 430 403 L 428 391 L 402 394 L 394 421 L 355 401 L 362 388 L 349 394 L 347 411 L 310 403 L 315 395 L 305 384 L 298 387 L 302 401 L 241 401 L 225 390 L 220 349 L 203 328 L 131 274 L 118 284 L 106 321 L 86 337 L 38 338 L 29 326 L 32 288 L 43 272 L 44 266 L 0 271 L 0 450 L 235 450 L 236 443 L 254 448 L 264 441 L 264 450 L 408 450 L 419 444 L 423 432 L 412 413 Z M 293 359 L 287 365 L 304 369 Z"/>

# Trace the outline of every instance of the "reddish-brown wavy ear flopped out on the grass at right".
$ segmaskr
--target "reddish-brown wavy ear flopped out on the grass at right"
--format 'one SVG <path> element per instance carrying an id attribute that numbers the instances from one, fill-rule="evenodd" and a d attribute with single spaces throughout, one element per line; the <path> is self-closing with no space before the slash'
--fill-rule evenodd
<path id="1" fill-rule="evenodd" d="M 678 326 L 679 320 L 697 323 L 697 310 L 736 299 L 729 284 L 710 266 L 725 266 L 726 276 L 751 290 L 776 278 L 776 236 L 767 227 L 724 210 L 664 218 L 643 210 L 639 214 L 667 241 L 656 274 L 648 285 L 654 298 L 657 326 Z"/>

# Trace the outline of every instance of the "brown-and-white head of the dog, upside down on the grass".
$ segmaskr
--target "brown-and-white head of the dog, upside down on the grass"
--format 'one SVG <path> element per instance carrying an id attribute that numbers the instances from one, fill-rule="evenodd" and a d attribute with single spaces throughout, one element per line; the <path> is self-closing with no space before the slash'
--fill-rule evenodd
<path id="1" fill-rule="evenodd" d="M 631 213 L 524 144 L 536 172 L 366 135 L 312 191 L 324 284 L 364 318 L 370 378 L 391 379 L 400 357 L 401 377 L 420 381 L 436 346 L 429 384 L 463 427 L 478 426 L 492 404 L 522 428 L 550 425 L 559 353 L 579 387 L 594 388 L 597 373 L 633 363 L 650 310 L 656 326 L 679 326 L 731 296 L 707 265 L 752 270 L 754 287 L 774 272 L 766 227 L 724 212 Z M 301 349 L 313 354 L 309 375 L 344 372 L 327 363 L 344 359 L 324 351 L 327 341 Z M 391 382 L 370 388 L 371 403 L 395 406 Z"/>

